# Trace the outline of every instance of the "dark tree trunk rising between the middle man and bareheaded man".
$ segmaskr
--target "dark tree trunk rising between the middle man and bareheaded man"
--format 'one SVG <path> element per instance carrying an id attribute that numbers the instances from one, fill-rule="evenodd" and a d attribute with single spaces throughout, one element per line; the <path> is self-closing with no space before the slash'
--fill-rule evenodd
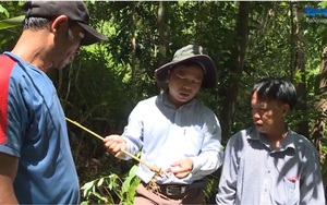
<path id="1" fill-rule="evenodd" d="M 237 102 L 238 93 L 239 93 L 239 82 L 242 77 L 244 57 L 247 44 L 249 35 L 249 12 L 250 12 L 250 2 L 240 1 L 239 2 L 239 14 L 237 23 L 237 37 L 235 43 L 231 52 L 232 64 L 229 73 L 229 86 L 227 88 L 227 96 L 222 105 L 221 111 L 221 129 L 222 129 L 222 141 L 227 141 L 230 132 L 231 124 L 233 121 L 234 114 L 234 105 Z"/>

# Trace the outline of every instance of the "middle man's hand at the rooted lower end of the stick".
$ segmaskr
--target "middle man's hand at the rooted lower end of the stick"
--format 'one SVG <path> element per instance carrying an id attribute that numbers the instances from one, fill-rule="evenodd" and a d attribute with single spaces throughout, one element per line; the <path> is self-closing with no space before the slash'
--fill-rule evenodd
<path id="1" fill-rule="evenodd" d="M 177 178 L 183 179 L 191 173 L 192 168 L 193 160 L 191 158 L 184 158 L 170 165 L 170 168 L 167 170 L 167 172 L 172 172 Z"/>

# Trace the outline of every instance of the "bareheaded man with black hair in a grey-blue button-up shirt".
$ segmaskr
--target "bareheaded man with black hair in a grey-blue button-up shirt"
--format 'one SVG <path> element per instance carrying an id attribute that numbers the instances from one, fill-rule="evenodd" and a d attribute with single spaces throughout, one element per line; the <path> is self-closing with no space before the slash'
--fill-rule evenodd
<path id="1" fill-rule="evenodd" d="M 286 124 L 296 102 L 294 86 L 264 79 L 251 97 L 254 126 L 227 144 L 217 204 L 325 205 L 317 150 Z"/>

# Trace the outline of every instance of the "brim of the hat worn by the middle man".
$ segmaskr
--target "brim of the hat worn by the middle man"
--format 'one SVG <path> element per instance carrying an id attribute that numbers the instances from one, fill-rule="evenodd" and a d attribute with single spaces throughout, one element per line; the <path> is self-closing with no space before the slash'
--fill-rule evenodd
<path id="1" fill-rule="evenodd" d="M 185 62 L 185 61 L 195 61 L 195 62 L 199 62 L 201 64 L 204 65 L 204 69 L 206 70 L 206 72 L 205 72 L 205 76 L 204 76 L 203 83 L 202 83 L 203 88 L 216 87 L 216 85 L 217 85 L 216 65 L 215 65 L 214 61 L 211 60 L 211 58 L 209 58 L 206 55 L 196 55 L 196 56 L 192 56 L 190 58 L 182 59 L 179 61 L 172 61 L 172 62 L 166 63 L 162 67 L 156 69 L 156 71 L 155 71 L 156 80 L 159 82 L 166 81 L 168 70 L 171 67 L 179 64 L 181 62 Z"/>

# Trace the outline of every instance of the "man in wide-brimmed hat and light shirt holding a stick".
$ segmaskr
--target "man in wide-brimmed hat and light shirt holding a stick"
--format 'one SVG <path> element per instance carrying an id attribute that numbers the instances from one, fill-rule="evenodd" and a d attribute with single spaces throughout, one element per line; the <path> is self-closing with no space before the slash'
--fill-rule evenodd
<path id="1" fill-rule="evenodd" d="M 167 89 L 140 101 L 123 134 L 106 137 L 105 146 L 122 159 L 130 158 L 121 149 L 142 149 L 143 161 L 167 172 L 156 176 L 140 165 L 134 204 L 202 204 L 203 178 L 220 167 L 223 153 L 218 119 L 195 96 L 201 87 L 216 86 L 216 67 L 201 46 L 189 45 L 156 70 L 156 79 L 167 80 Z"/>

